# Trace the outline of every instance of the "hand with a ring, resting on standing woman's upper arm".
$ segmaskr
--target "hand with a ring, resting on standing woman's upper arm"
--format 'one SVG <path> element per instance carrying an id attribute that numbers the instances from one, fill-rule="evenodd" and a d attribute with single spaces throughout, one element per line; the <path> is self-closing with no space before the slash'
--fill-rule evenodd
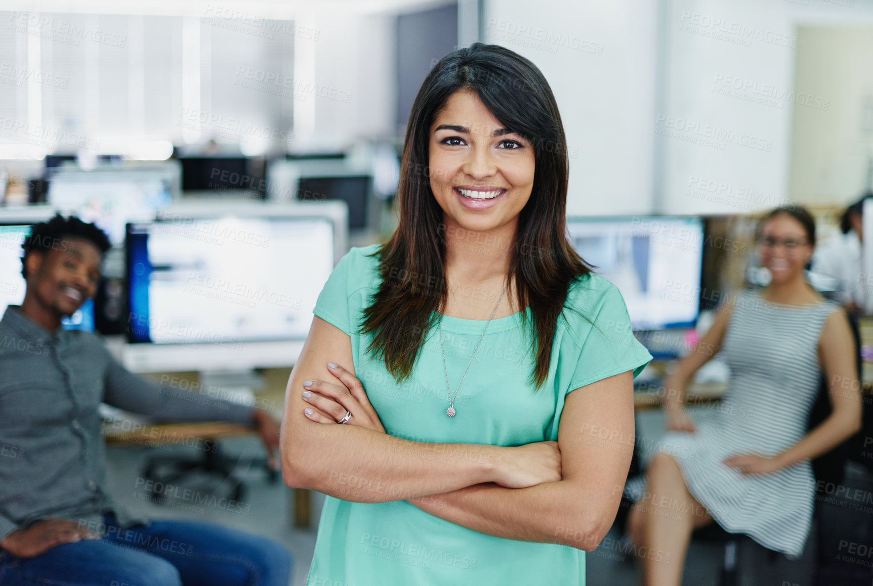
<path id="1" fill-rule="evenodd" d="M 306 419 L 316 423 L 335 424 L 345 417 L 346 412 L 350 412 L 352 417 L 344 425 L 365 427 L 374 432 L 385 433 L 382 420 L 379 419 L 379 414 L 373 405 L 370 405 L 361 381 L 342 366 L 332 365 L 333 363 L 328 362 L 327 370 L 331 371 L 334 377 L 339 378 L 342 385 L 332 385 L 323 380 L 303 381 L 305 389 L 303 400 L 310 405 L 303 412 Z M 310 384 L 306 385 L 306 383 Z"/>

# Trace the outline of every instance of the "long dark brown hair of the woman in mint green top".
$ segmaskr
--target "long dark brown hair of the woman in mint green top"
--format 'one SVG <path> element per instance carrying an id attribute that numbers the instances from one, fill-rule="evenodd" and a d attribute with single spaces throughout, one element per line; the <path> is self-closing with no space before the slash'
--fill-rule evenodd
<path id="1" fill-rule="evenodd" d="M 552 89 L 526 58 L 494 44 L 475 43 L 442 58 L 430 70 L 412 105 L 403 145 L 395 202 L 399 225 L 374 254 L 382 283 L 363 312 L 368 346 L 400 382 L 409 378 L 436 312 L 445 307 L 443 209 L 430 190 L 430 126 L 449 97 L 476 92 L 496 119 L 534 149 L 531 197 L 519 213 L 509 275 L 515 277 L 519 304 L 529 308 L 533 327 L 525 327 L 536 360 L 530 382 L 546 382 L 558 318 L 567 290 L 590 272 L 567 241 L 567 142 Z M 525 311 L 522 324 L 528 325 Z"/>

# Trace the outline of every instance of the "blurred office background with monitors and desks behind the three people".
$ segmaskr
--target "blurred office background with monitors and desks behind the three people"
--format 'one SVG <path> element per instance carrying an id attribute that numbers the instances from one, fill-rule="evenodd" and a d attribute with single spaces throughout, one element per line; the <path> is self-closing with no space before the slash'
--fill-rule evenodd
<path id="1" fill-rule="evenodd" d="M 842 210 L 873 187 L 873 0 L 12 0 L 4 9 L 0 312 L 24 296 L 19 246 L 31 224 L 76 213 L 104 228 L 113 249 L 98 296 L 65 327 L 99 331 L 127 368 L 162 385 L 277 417 L 333 264 L 395 225 L 409 108 L 430 67 L 458 46 L 503 44 L 552 85 L 567 130 L 570 235 L 620 287 L 656 357 L 637 380 L 644 445 L 663 433 L 663 373 L 719 300 L 766 283 L 757 218 L 800 203 L 825 246 L 840 237 Z M 862 318 L 865 357 L 868 330 Z M 690 399 L 700 417 L 718 405 L 727 374 L 718 360 L 698 373 Z M 257 438 L 104 415 L 119 501 L 275 537 L 292 551 L 294 584 L 305 583 L 320 498 L 270 474 Z M 182 460 L 196 467 L 175 476 Z M 873 494 L 870 461 L 857 451 L 842 484 L 820 487 L 801 560 L 742 536 L 701 537 L 685 583 L 870 583 L 870 555 L 858 551 L 873 551 L 873 515 L 847 496 Z M 168 478 L 225 500 L 146 490 Z M 236 504 L 214 504 L 228 499 Z M 616 523 L 588 555 L 588 583 L 636 583 L 633 558 Z"/>

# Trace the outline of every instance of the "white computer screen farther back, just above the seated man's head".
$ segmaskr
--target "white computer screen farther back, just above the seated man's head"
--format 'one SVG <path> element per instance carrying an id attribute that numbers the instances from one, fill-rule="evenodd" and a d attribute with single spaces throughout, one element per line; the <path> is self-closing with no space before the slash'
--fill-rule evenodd
<path id="1" fill-rule="evenodd" d="M 172 189 L 171 175 L 158 170 L 69 170 L 51 175 L 48 203 L 93 222 L 120 246 L 127 222 L 155 217 L 173 201 Z"/>

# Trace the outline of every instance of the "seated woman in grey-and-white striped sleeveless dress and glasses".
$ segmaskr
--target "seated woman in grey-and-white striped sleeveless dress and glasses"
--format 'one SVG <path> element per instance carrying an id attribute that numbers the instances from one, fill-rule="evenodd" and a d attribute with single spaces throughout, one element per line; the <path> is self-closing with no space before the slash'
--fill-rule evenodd
<path id="1" fill-rule="evenodd" d="M 776 208 L 760 228 L 762 290 L 725 303 L 695 351 L 666 383 L 667 433 L 647 467 L 647 495 L 629 515 L 634 541 L 663 552 L 645 558 L 645 583 L 682 583 L 693 528 L 713 518 L 766 548 L 800 555 L 812 521 L 809 460 L 861 426 L 854 339 L 839 305 L 804 278 L 815 221 L 803 208 Z M 718 411 L 695 425 L 682 410 L 684 387 L 718 351 L 731 367 Z M 807 433 L 827 374 L 833 411 Z M 670 555 L 668 555 L 670 554 Z"/>

